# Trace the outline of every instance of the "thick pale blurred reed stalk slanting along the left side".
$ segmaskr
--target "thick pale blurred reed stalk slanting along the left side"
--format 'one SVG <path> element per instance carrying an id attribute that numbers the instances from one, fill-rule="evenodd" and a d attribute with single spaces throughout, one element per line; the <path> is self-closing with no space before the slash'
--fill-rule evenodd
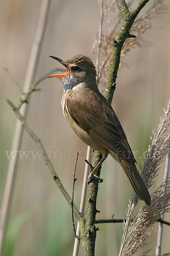
<path id="1" fill-rule="evenodd" d="M 23 86 L 23 92 L 27 92 L 29 90 L 30 85 L 34 81 L 35 73 L 38 66 L 39 54 L 41 49 L 41 44 L 43 40 L 43 35 L 46 28 L 47 23 L 47 15 L 49 11 L 50 0 L 43 0 L 40 9 L 40 16 L 38 20 L 37 30 L 35 33 L 35 40 L 32 44 L 31 54 L 29 58 L 29 64 L 26 72 L 26 78 Z M 24 104 L 21 108 L 21 114 L 25 117 L 27 112 L 27 105 Z M 12 151 L 20 150 L 20 144 L 23 137 L 23 128 L 19 120 L 16 122 L 15 130 L 14 130 L 14 140 L 12 143 Z M 16 166 L 18 162 L 17 157 L 10 158 L 9 169 L 6 178 L 6 185 L 4 190 L 4 195 L 1 204 L 1 212 L 0 212 L 0 255 L 2 255 L 3 249 L 3 240 L 5 235 L 5 230 L 7 226 L 7 221 L 9 218 L 9 210 L 12 202 L 12 195 L 14 190 L 15 178 L 16 178 Z"/>

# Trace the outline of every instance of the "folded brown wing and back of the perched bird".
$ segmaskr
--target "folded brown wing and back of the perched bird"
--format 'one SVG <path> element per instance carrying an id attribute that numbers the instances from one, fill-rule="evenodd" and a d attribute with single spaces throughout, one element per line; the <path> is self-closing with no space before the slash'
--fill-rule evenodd
<path id="1" fill-rule="evenodd" d="M 135 163 L 121 124 L 107 99 L 98 91 L 84 88 L 70 93 L 66 101 L 72 119 L 105 148 Z"/>

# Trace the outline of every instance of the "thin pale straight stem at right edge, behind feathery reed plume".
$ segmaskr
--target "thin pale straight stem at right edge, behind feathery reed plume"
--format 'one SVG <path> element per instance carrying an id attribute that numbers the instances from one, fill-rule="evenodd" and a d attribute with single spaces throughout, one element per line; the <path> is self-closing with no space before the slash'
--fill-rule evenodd
<path id="1" fill-rule="evenodd" d="M 167 186 L 167 180 L 168 180 L 169 166 L 170 166 L 170 150 L 167 152 L 167 159 L 166 159 L 166 163 L 165 163 L 164 178 L 163 178 L 163 182 L 166 183 L 166 186 Z M 161 219 L 161 221 L 158 225 L 156 255 L 161 255 L 161 243 L 162 243 L 162 233 L 163 233 L 163 223 L 162 223 L 162 221 L 164 219 L 164 212 L 161 215 L 160 219 Z"/>

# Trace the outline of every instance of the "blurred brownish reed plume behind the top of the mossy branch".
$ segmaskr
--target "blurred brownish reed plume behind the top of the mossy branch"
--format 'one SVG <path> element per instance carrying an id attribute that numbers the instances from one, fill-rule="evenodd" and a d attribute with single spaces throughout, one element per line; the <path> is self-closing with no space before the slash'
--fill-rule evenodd
<path id="1" fill-rule="evenodd" d="M 109 20 L 110 12 L 114 12 L 116 7 L 116 3 L 113 0 L 99 0 L 101 14 L 100 14 L 100 29 L 99 33 L 95 36 L 95 42 L 93 44 L 93 52 L 98 54 L 97 58 L 97 73 L 98 73 L 98 86 L 104 89 L 104 84 L 107 78 L 107 72 L 109 67 L 109 59 L 111 54 L 111 45 L 113 39 L 116 37 L 118 33 L 118 29 L 121 24 L 120 15 L 117 17 L 117 21 L 112 26 L 111 20 Z M 130 0 L 127 3 L 128 8 L 130 9 L 133 0 Z M 130 51 L 135 46 L 146 47 L 149 42 L 145 42 L 141 35 L 152 26 L 152 20 L 156 15 L 161 14 L 164 9 L 166 9 L 166 5 L 162 0 L 155 0 L 149 9 L 143 15 L 137 16 L 133 26 L 130 30 L 131 35 L 135 35 L 136 38 L 128 38 L 122 47 L 121 50 L 121 59 L 120 65 L 123 64 L 123 59 L 127 52 Z"/>

